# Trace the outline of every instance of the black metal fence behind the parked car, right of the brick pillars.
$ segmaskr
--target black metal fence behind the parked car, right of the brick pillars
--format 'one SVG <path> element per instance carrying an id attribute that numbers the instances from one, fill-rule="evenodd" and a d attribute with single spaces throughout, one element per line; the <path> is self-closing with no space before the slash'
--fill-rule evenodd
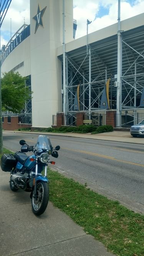
<path id="1" fill-rule="evenodd" d="M 116 120 L 119 114 L 115 115 L 115 127 L 116 127 Z M 134 113 L 125 111 L 121 114 L 121 126 L 122 127 L 131 127 L 132 125 L 136 125 L 144 120 L 144 113 Z"/>

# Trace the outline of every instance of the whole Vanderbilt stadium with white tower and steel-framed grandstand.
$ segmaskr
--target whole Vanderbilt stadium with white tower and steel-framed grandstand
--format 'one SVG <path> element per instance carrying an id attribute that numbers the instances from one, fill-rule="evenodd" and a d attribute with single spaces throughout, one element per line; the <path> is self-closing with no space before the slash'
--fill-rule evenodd
<path id="1" fill-rule="evenodd" d="M 118 23 L 78 39 L 75 32 L 73 0 L 30 1 L 30 25 L 2 47 L 1 73 L 27 76 L 32 100 L 21 113 L 3 113 L 3 128 L 144 119 L 144 13 L 120 21 L 119 9 Z"/>

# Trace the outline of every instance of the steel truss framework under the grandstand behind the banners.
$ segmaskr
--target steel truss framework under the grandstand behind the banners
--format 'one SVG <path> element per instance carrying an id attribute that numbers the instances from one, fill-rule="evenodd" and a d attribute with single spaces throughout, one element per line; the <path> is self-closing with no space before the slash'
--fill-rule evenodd
<path id="1" fill-rule="evenodd" d="M 120 114 L 130 108 L 136 111 L 139 107 L 144 88 L 144 26 L 126 32 L 119 31 L 119 35 L 120 59 L 117 34 L 91 43 L 88 45 L 88 53 L 86 46 L 66 52 L 67 125 L 73 125 L 76 119 L 73 105 L 78 85 L 80 85 L 79 111 L 84 111 L 88 119 L 91 119 L 91 115 L 95 115 L 94 113 L 102 113 L 100 109 L 101 95 L 109 78 L 111 78 L 109 84 L 110 106 L 111 109 L 118 110 L 118 65 L 121 83 Z M 58 58 L 63 62 L 62 55 Z M 121 126 L 121 122 L 118 121 L 117 126 Z"/>

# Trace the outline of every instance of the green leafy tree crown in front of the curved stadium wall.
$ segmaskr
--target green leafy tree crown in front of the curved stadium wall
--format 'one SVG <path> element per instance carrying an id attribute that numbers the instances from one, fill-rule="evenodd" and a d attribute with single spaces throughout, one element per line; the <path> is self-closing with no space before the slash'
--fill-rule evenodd
<path id="1" fill-rule="evenodd" d="M 25 85 L 26 77 L 18 72 L 3 73 L 2 86 L 2 110 L 19 113 L 25 106 L 25 101 L 31 98 L 31 91 Z"/>

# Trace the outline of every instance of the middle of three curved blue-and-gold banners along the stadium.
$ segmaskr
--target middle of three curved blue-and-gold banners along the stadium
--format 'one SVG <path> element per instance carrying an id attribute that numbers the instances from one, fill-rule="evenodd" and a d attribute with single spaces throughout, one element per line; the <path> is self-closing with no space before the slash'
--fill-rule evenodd
<path id="1" fill-rule="evenodd" d="M 109 78 L 110 80 L 110 78 Z M 103 94 L 101 96 L 101 109 L 109 109 L 109 80 L 106 82 L 104 86 Z"/>

